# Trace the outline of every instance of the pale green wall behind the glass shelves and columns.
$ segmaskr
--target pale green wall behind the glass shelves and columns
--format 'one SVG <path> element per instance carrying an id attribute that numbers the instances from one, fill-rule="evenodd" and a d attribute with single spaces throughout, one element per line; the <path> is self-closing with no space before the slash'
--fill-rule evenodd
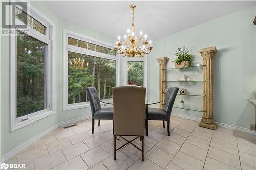
<path id="1" fill-rule="evenodd" d="M 216 122 L 249 128 L 255 124 L 255 107 L 247 98 L 255 98 L 256 90 L 256 29 L 252 21 L 256 6 L 205 22 L 184 31 L 168 35 L 153 42 L 154 49 L 148 57 L 148 90 L 150 100 L 159 99 L 159 66 L 157 57 L 169 57 L 167 68 L 174 67 L 177 46 L 192 48 L 194 63 L 202 63 L 199 50 L 216 46 L 214 57 L 214 119 Z M 172 20 L 168 20 L 172 22 Z M 187 75 L 201 75 L 201 70 L 186 72 Z M 167 79 L 176 80 L 182 72 L 167 73 Z M 174 75 L 174 76 L 173 76 Z M 199 79 L 199 77 L 198 77 Z M 195 80 L 195 79 L 194 79 Z M 185 84 L 168 84 L 183 87 Z M 197 91 L 199 85 L 188 85 L 191 92 Z M 201 86 L 202 87 L 202 86 Z M 200 88 L 201 88 L 200 87 Z M 178 97 L 180 99 L 180 97 Z M 199 98 L 185 98 L 185 105 L 202 102 Z M 200 101 L 200 102 L 199 102 Z M 176 101 L 178 104 L 179 101 Z M 196 106 L 191 104 L 191 106 Z M 202 113 L 174 109 L 173 113 L 200 118 Z"/>

